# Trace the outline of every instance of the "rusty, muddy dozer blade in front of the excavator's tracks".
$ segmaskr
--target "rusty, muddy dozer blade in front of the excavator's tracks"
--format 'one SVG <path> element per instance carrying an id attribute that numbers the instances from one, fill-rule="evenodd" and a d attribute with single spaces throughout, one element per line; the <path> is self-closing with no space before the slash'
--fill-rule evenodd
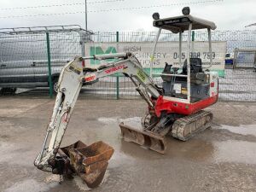
<path id="1" fill-rule="evenodd" d="M 137 143 L 160 154 L 165 154 L 166 143 L 164 137 L 160 137 L 150 131 L 137 130 L 129 125 L 124 125 L 124 123 L 120 123 L 119 127 L 125 142 Z"/>

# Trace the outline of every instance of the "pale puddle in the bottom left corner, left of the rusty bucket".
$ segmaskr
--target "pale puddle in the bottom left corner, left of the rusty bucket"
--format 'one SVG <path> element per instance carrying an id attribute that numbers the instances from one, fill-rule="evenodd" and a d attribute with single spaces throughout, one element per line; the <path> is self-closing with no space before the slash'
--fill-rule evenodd
<path id="1" fill-rule="evenodd" d="M 15 183 L 8 189 L 5 189 L 4 192 L 35 192 L 35 191 L 49 191 L 50 188 L 53 188 L 58 183 L 39 183 L 34 179 L 26 179 L 19 183 Z"/>

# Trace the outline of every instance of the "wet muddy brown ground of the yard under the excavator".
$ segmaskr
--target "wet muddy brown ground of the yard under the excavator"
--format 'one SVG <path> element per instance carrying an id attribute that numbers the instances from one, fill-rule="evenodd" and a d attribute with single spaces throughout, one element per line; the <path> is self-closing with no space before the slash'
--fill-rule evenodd
<path id="1" fill-rule="evenodd" d="M 0 97 L 0 191 L 84 191 L 75 177 L 39 171 L 54 100 L 44 96 Z M 141 100 L 79 98 L 62 146 L 102 140 L 115 152 L 103 183 L 92 191 L 256 191 L 256 103 L 218 102 L 212 128 L 183 143 L 167 139 L 165 155 L 125 143 L 118 122 L 140 117 Z"/>

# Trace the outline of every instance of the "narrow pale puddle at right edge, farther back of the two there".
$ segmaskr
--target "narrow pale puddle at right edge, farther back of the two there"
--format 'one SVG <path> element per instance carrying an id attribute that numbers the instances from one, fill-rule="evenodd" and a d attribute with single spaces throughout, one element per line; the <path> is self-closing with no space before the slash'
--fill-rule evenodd
<path id="1" fill-rule="evenodd" d="M 256 125 L 240 125 L 240 126 L 221 125 L 220 129 L 225 129 L 230 132 L 241 134 L 241 135 L 256 136 Z"/>

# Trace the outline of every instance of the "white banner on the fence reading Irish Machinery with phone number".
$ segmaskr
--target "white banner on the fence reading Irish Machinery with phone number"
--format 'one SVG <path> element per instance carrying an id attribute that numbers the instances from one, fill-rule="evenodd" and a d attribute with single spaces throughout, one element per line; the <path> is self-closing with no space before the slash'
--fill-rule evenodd
<path id="1" fill-rule="evenodd" d="M 117 52 L 132 52 L 137 56 L 146 70 L 150 67 L 150 55 L 152 54 L 153 42 L 119 42 L 119 43 L 87 43 L 85 44 L 85 55 L 109 54 Z M 181 56 L 182 62 L 186 58 L 186 42 L 182 44 L 182 54 L 178 54 L 178 42 L 160 42 L 157 44 L 154 54 L 154 73 L 160 73 L 166 62 L 173 67 L 179 67 L 178 61 Z M 192 44 L 190 57 L 199 57 L 203 67 L 210 65 L 210 54 L 208 42 L 195 41 Z M 211 70 L 218 71 L 220 76 L 224 75 L 224 59 L 226 53 L 226 42 L 212 42 L 212 67 Z M 113 61 L 113 60 L 109 60 Z M 90 60 L 86 62 L 90 67 L 96 67 L 100 61 Z"/>

